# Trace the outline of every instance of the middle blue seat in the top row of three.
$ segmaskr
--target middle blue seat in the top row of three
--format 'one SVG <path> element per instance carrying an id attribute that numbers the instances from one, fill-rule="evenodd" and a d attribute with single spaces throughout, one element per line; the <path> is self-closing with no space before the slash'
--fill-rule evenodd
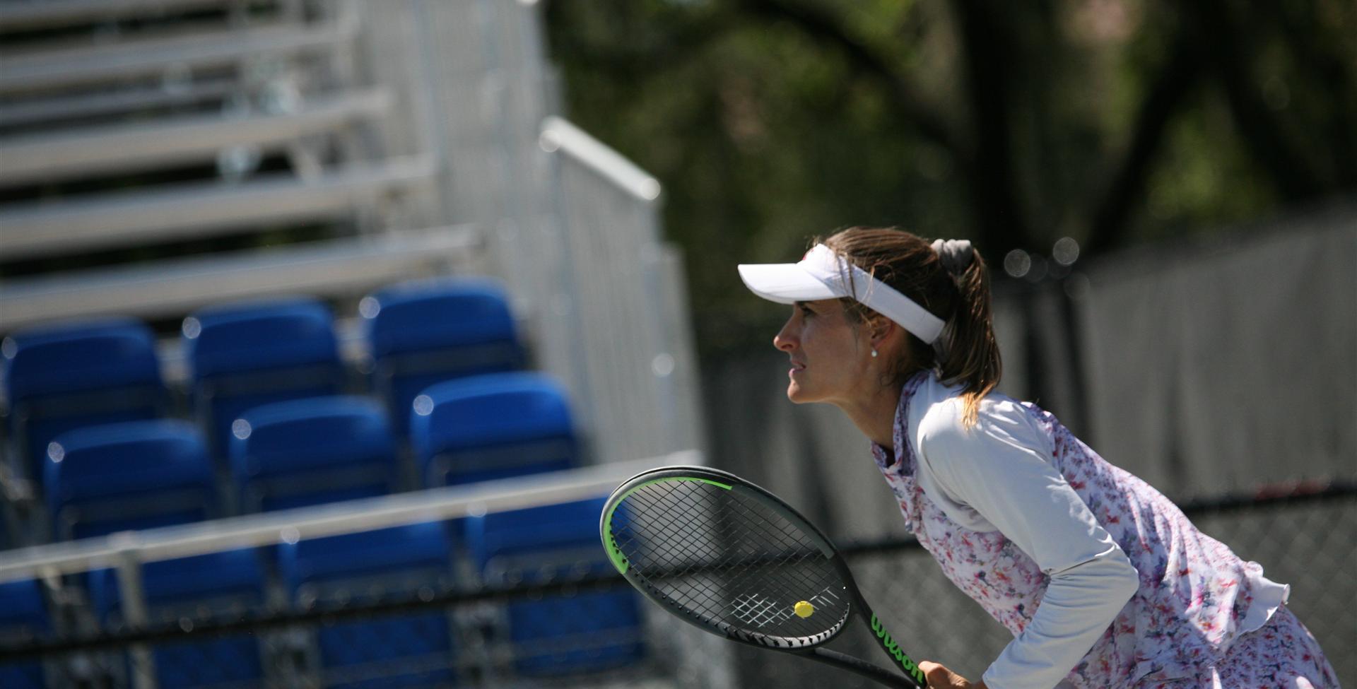
<path id="1" fill-rule="evenodd" d="M 343 389 L 334 317 L 318 300 L 212 307 L 182 331 L 194 414 L 214 457 L 227 456 L 231 425 L 246 410 Z"/>

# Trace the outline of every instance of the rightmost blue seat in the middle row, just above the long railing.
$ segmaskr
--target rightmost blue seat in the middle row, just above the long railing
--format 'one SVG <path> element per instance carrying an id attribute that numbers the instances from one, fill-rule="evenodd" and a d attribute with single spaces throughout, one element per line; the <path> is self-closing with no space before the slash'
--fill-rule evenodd
<path id="1" fill-rule="evenodd" d="M 423 391 L 410 442 L 427 486 L 471 483 L 579 464 L 565 391 L 539 373 L 494 373 Z"/>

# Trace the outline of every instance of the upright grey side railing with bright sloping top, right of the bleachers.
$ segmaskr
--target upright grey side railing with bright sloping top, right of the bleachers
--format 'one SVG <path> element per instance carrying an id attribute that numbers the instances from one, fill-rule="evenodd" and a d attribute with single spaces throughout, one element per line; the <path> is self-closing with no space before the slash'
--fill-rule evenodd
<path id="1" fill-rule="evenodd" d="M 660 182 L 574 125 L 547 118 L 562 282 L 554 313 L 592 400 L 601 457 L 699 446 L 697 369 L 680 259 L 662 241 Z"/>

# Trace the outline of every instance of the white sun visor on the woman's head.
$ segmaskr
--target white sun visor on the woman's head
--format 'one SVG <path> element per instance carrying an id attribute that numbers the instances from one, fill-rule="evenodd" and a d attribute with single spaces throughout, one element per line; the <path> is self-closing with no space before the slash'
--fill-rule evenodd
<path id="1" fill-rule="evenodd" d="M 816 244 L 798 263 L 741 264 L 740 279 L 754 294 L 779 304 L 855 298 L 930 344 L 942 334 L 942 319 L 824 244 Z"/>

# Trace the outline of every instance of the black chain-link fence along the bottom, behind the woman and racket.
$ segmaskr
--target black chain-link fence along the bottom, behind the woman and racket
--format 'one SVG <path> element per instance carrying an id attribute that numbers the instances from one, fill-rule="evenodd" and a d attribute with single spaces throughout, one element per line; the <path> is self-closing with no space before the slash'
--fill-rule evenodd
<path id="1" fill-rule="evenodd" d="M 1357 487 L 1186 507 L 1269 578 L 1357 682 Z M 1010 640 L 912 540 L 845 548 L 875 612 L 916 659 L 978 677 Z M 584 560 L 579 560 L 584 562 Z M 299 595 L 221 597 L 151 609 L 144 627 L 102 625 L 76 576 L 49 590 L 53 625 L 0 636 L 0 685 L 161 688 L 866 688 L 820 663 L 704 635 L 641 599 L 616 574 L 579 564 L 510 567 L 474 586 L 456 576 L 354 579 Z M 57 632 L 56 629 L 61 629 Z M 885 665 L 867 632 L 832 647 Z"/>

